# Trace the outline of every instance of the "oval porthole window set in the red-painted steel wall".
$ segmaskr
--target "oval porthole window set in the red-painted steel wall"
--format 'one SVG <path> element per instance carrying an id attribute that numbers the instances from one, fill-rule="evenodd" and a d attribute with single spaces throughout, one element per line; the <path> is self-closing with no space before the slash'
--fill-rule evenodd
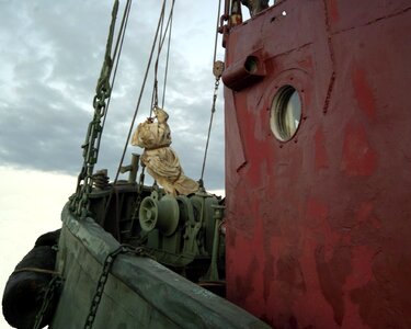
<path id="1" fill-rule="evenodd" d="M 301 121 L 301 100 L 292 86 L 282 87 L 271 106 L 270 124 L 275 137 L 282 141 L 293 138 Z"/>

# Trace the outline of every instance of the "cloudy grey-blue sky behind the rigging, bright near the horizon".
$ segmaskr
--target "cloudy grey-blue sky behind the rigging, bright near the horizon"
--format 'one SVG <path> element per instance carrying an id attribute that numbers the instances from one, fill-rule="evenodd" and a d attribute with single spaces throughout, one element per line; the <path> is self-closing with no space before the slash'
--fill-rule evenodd
<path id="1" fill-rule="evenodd" d="M 126 143 L 161 3 L 135 0 L 132 7 L 95 166 L 107 168 L 111 179 Z M 76 189 L 112 1 L 0 0 L 0 8 L 2 294 L 7 277 L 36 237 L 61 225 L 59 212 Z M 214 91 L 216 11 L 217 1 L 175 1 L 164 109 L 170 114 L 172 147 L 185 173 L 195 180 L 201 175 Z M 221 54 L 219 49 L 218 59 Z M 163 65 L 162 60 L 160 72 Z M 136 124 L 149 115 L 150 72 Z M 208 190 L 224 189 L 222 114 L 220 92 L 205 171 Z M 128 147 L 125 164 L 132 151 L 140 150 Z M 2 317 L 0 328 L 9 328 Z"/>

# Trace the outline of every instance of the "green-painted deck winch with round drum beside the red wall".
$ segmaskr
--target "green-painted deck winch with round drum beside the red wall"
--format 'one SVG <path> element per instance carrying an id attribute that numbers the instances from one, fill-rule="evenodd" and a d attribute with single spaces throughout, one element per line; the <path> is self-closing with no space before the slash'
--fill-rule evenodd
<path id="1" fill-rule="evenodd" d="M 186 266 L 213 256 L 218 200 L 205 192 L 185 196 L 153 191 L 141 201 L 139 224 L 147 248 L 161 263 Z M 218 225 L 218 224 L 217 224 Z"/>

